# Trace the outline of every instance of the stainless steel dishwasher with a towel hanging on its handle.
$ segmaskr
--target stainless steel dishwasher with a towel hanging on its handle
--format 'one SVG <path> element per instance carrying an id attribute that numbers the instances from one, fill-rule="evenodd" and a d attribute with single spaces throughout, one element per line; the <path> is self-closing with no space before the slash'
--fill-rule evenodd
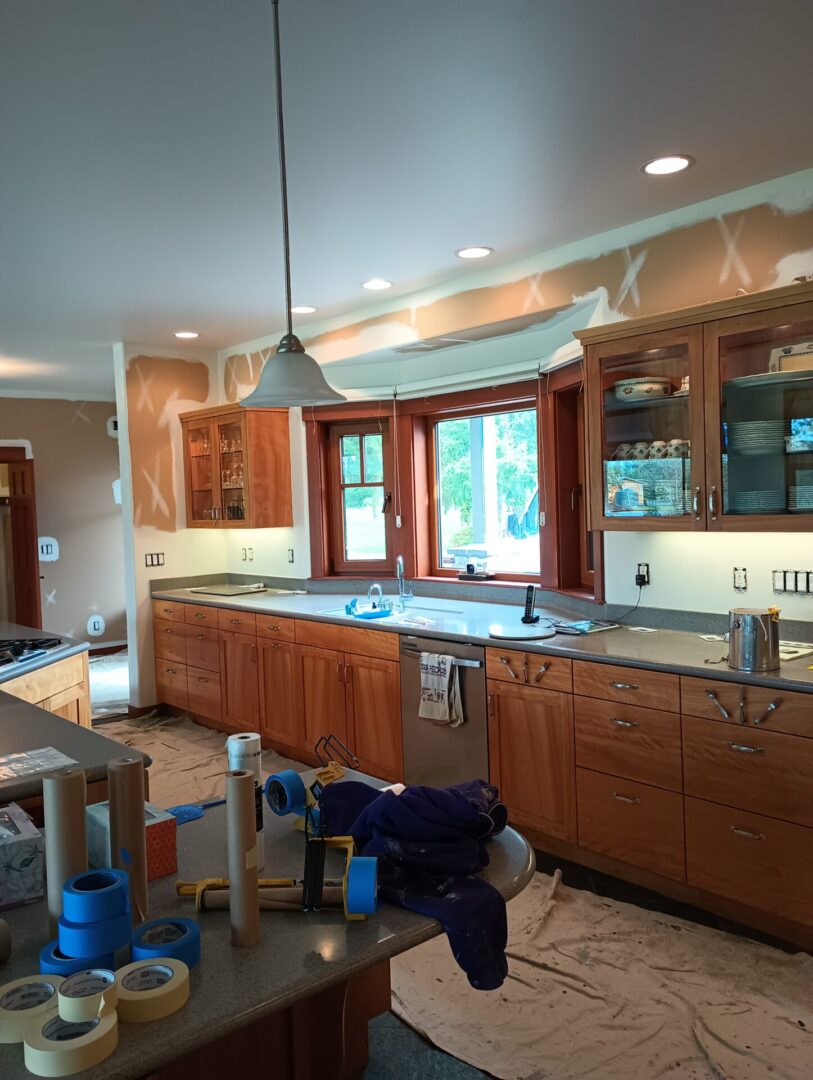
<path id="1" fill-rule="evenodd" d="M 457 728 L 418 715 L 421 652 L 442 652 L 460 661 L 460 697 L 465 721 Z M 404 780 L 445 787 L 463 780 L 488 780 L 486 650 L 478 645 L 430 637 L 401 638 L 401 716 L 404 726 Z"/>

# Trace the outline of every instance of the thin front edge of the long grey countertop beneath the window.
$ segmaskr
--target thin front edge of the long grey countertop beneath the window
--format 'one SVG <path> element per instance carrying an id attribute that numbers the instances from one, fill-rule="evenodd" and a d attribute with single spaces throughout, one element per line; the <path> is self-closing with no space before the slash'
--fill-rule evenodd
<path id="1" fill-rule="evenodd" d="M 262 594 L 259 594 L 262 595 Z M 309 594 L 310 595 L 310 594 Z M 200 598 L 180 597 L 175 595 L 173 592 L 154 592 L 152 593 L 153 599 L 165 599 L 173 600 L 176 604 L 207 604 L 212 607 L 228 608 L 230 611 L 248 611 L 255 615 L 267 615 L 269 613 L 268 608 L 253 609 L 245 603 L 245 597 L 241 597 L 244 600 L 242 604 L 230 604 L 229 600 L 233 599 L 230 596 L 201 596 Z M 272 599 L 272 597 L 269 597 Z M 468 603 L 472 603 L 471 600 Z M 547 618 L 551 616 L 561 617 L 563 613 L 566 618 L 571 618 L 570 615 L 566 612 L 558 611 L 552 608 L 538 608 L 538 612 L 542 618 Z M 300 619 L 303 622 L 327 622 L 339 626 L 358 626 L 361 620 L 352 619 L 350 617 L 342 619 L 341 616 L 324 616 L 315 615 L 312 611 L 303 612 L 293 612 L 286 609 L 281 609 L 274 611 L 280 618 L 287 619 Z M 623 623 L 621 624 L 623 625 Z M 546 656 L 565 657 L 569 660 L 585 660 L 590 663 L 597 664 L 615 664 L 622 667 L 640 667 L 643 671 L 653 672 L 664 672 L 667 675 L 686 675 L 692 678 L 713 678 L 720 679 L 727 683 L 747 683 L 751 686 L 764 686 L 773 690 L 796 690 L 800 693 L 813 693 L 813 686 L 810 683 L 797 681 L 792 677 L 787 675 L 780 675 L 771 672 L 741 672 L 733 667 L 729 667 L 728 664 L 707 664 L 704 666 L 699 666 L 695 664 L 681 664 L 681 663 L 663 663 L 660 660 L 641 660 L 641 659 L 631 659 L 624 656 L 607 656 L 604 652 L 590 653 L 581 649 L 568 648 L 567 645 L 552 644 L 547 642 L 521 642 L 521 640 L 497 640 L 490 637 L 477 637 L 464 634 L 453 634 L 447 631 L 432 630 L 429 626 L 404 626 L 404 625 L 387 625 L 382 626 L 380 623 L 376 623 L 375 620 L 365 622 L 362 629 L 365 630 L 376 630 L 380 633 L 398 634 L 398 635 L 412 635 L 418 637 L 433 637 L 442 642 L 462 642 L 466 645 L 483 645 L 488 648 L 499 648 L 499 649 L 511 649 L 514 651 L 521 652 L 540 652 Z M 607 633 L 611 633 L 608 631 Z M 674 634 L 691 634 L 690 631 L 675 630 L 669 631 Z M 590 635 L 584 635 L 588 637 Z M 602 636 L 602 635 L 599 635 Z M 578 640 L 583 640 L 583 637 L 579 637 Z M 723 646 L 724 642 L 713 643 Z M 811 662 L 813 662 L 813 657 L 810 657 Z"/>

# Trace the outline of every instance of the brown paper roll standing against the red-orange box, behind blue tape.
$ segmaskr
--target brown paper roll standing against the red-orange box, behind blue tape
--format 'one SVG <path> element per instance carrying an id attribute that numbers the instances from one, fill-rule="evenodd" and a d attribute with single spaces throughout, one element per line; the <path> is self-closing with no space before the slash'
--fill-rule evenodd
<path id="1" fill-rule="evenodd" d="M 110 798 L 110 863 L 130 874 L 133 922 L 144 922 L 149 909 L 144 758 L 113 758 L 107 766 L 107 785 Z"/>

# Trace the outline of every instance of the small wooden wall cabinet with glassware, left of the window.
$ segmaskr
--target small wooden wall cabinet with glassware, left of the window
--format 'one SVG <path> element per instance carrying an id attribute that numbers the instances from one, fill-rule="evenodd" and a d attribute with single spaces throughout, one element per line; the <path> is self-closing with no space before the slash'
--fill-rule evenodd
<path id="1" fill-rule="evenodd" d="M 180 427 L 190 528 L 294 524 L 287 409 L 199 409 Z"/>

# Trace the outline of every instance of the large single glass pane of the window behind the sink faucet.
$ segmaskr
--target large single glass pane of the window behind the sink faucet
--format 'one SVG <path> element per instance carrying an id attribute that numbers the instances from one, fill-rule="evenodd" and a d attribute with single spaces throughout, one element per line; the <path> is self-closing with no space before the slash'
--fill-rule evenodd
<path id="1" fill-rule="evenodd" d="M 435 427 L 441 565 L 539 572 L 534 409 Z"/>

